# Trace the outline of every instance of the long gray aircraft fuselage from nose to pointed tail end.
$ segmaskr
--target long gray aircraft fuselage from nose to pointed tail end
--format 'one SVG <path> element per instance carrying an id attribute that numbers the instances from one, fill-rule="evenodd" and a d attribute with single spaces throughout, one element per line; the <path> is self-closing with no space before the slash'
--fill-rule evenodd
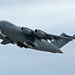
<path id="1" fill-rule="evenodd" d="M 21 31 L 21 27 L 15 26 L 10 22 L 1 21 L 0 30 L 4 36 L 8 37 L 15 44 L 22 43 L 23 45 L 31 49 L 53 53 L 62 53 L 62 51 L 52 43 L 44 39 L 39 40 L 38 38 L 32 38 L 31 36 L 24 34 Z M 29 42 L 30 45 L 26 44 L 26 42 Z M 34 47 L 32 47 L 31 45 L 34 45 Z"/>

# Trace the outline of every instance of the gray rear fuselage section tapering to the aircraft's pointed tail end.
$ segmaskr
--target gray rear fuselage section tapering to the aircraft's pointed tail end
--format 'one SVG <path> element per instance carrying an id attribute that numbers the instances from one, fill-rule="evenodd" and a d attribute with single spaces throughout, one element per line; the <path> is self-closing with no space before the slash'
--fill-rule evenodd
<path id="1" fill-rule="evenodd" d="M 45 40 L 36 40 L 38 47 L 36 49 L 40 51 L 47 51 L 47 52 L 53 52 L 53 53 L 61 53 L 60 49 L 57 48 L 55 45 L 52 43 L 49 43 Z"/>

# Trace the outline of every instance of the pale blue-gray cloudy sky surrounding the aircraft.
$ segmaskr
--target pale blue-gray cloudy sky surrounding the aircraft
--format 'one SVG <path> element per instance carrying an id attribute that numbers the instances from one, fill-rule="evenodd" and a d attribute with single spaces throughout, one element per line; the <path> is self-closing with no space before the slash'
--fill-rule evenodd
<path id="1" fill-rule="evenodd" d="M 0 0 L 0 20 L 50 34 L 74 35 L 75 1 Z M 0 45 L 0 75 L 75 75 L 75 41 L 61 50 L 63 55 Z"/>

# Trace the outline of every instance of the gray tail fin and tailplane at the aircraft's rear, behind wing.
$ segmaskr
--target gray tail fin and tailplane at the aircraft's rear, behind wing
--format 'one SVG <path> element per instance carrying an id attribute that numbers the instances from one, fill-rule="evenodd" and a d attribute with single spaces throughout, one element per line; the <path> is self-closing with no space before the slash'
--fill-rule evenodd
<path id="1" fill-rule="evenodd" d="M 53 40 L 51 43 L 54 44 L 55 46 L 57 46 L 58 48 L 63 47 L 64 45 L 66 45 L 68 42 L 72 41 L 73 39 L 75 39 L 75 35 L 74 36 L 68 36 L 65 33 L 62 33 L 60 36 L 63 37 L 67 37 L 67 39 L 58 39 L 58 40 Z"/>

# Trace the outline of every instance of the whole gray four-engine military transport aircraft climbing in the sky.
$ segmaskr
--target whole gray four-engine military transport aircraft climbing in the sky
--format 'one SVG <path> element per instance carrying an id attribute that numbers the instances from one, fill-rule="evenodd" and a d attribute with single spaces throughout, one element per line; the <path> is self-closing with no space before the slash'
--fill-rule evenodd
<path id="1" fill-rule="evenodd" d="M 57 36 L 48 34 L 40 29 L 32 30 L 27 27 L 15 26 L 8 21 L 0 21 L 0 39 L 3 40 L 1 42 L 3 45 L 11 43 L 21 48 L 63 53 L 60 48 L 75 39 L 75 35 L 69 36 L 62 33 L 60 36 Z"/>

